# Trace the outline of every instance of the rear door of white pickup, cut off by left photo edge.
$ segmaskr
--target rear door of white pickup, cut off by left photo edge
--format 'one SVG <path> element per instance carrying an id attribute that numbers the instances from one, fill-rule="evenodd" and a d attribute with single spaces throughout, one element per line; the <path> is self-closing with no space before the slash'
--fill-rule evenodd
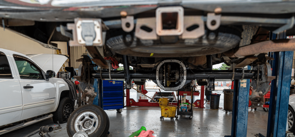
<path id="1" fill-rule="evenodd" d="M 19 121 L 23 107 L 22 91 L 12 58 L 6 55 L 0 51 L 0 126 Z"/>

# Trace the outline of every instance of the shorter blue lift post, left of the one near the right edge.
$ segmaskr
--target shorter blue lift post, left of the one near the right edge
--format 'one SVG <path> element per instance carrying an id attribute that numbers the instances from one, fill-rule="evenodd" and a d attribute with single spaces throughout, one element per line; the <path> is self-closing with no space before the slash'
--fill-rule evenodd
<path id="1" fill-rule="evenodd" d="M 248 66 L 250 69 L 250 66 Z M 250 79 L 234 81 L 231 136 L 247 136 Z M 238 131 L 238 132 L 237 132 Z"/>

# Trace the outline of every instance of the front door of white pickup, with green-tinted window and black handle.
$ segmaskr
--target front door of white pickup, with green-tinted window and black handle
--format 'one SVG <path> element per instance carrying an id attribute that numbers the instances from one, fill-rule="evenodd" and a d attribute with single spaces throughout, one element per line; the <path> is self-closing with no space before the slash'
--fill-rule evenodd
<path id="1" fill-rule="evenodd" d="M 56 89 L 52 79 L 46 81 L 42 70 L 30 59 L 13 55 L 22 88 L 24 109 L 21 120 L 53 112 Z"/>

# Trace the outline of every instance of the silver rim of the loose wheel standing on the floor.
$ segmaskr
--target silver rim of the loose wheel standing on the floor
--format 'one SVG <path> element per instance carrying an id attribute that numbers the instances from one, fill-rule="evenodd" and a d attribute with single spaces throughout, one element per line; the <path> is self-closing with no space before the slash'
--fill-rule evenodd
<path id="1" fill-rule="evenodd" d="M 83 131 L 86 134 L 91 134 L 96 130 L 99 124 L 98 116 L 90 111 L 86 111 L 78 115 L 75 120 L 75 130 L 76 132 Z"/>

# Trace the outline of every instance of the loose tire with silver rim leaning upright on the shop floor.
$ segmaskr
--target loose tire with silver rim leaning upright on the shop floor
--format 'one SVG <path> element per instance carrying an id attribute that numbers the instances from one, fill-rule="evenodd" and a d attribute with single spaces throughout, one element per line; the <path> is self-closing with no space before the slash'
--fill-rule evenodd
<path id="1" fill-rule="evenodd" d="M 96 105 L 78 107 L 68 119 L 68 136 L 78 131 L 86 132 L 89 137 L 105 137 L 109 131 L 109 117 Z"/>

